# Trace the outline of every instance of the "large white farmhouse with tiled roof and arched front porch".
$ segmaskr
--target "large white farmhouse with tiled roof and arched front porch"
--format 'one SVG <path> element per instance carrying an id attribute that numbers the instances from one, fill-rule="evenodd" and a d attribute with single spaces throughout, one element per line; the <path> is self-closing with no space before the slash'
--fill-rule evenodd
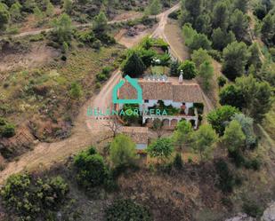
<path id="1" fill-rule="evenodd" d="M 148 75 L 137 79 L 142 87 L 142 103 L 139 108 L 144 110 L 166 109 L 168 114 L 142 114 L 142 124 L 150 125 L 155 119 L 164 122 L 165 128 L 174 130 L 174 127 L 182 119 L 192 123 L 195 129 L 198 128 L 198 105 L 204 103 L 202 91 L 195 81 L 182 80 L 179 78 L 167 77 L 166 75 Z M 125 81 L 125 84 L 117 91 L 119 99 L 136 99 L 137 91 Z M 119 104 L 122 108 L 123 104 Z"/>

